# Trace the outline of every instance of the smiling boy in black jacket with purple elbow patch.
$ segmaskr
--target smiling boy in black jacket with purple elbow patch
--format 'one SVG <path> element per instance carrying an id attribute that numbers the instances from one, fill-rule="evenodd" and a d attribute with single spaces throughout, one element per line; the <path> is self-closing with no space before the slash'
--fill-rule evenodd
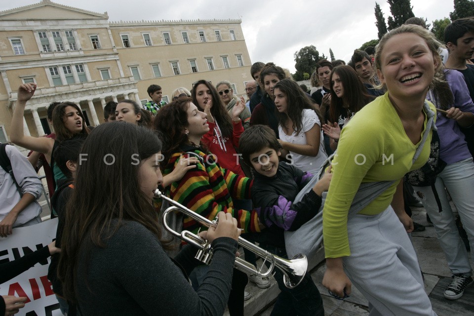
<path id="1" fill-rule="evenodd" d="M 254 125 L 241 135 L 239 151 L 243 160 L 255 170 L 252 201 L 266 229 L 259 233 L 260 247 L 287 258 L 284 231 L 297 230 L 313 218 L 321 206 L 321 194 L 329 188 L 331 174 L 326 172 L 301 201 L 293 203 L 301 189 L 310 181 L 311 174 L 286 162 L 279 162 L 281 145 L 275 132 L 268 126 Z M 274 307 L 278 315 L 324 315 L 322 299 L 311 276 L 306 274 L 301 283 L 289 289 L 283 274 L 275 271 L 280 289 Z"/>

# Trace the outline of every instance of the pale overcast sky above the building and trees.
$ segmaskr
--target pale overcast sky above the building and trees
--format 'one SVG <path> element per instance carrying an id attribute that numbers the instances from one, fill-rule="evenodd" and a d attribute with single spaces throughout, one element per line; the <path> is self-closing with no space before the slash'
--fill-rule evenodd
<path id="1" fill-rule="evenodd" d="M 39 0 L 0 1 L 0 10 L 38 3 Z M 252 63 L 270 62 L 295 72 L 293 54 L 315 45 L 319 55 L 349 61 L 354 49 L 377 38 L 374 0 L 55 0 L 81 9 L 109 14 L 109 21 L 242 19 L 242 30 Z M 453 0 L 411 0 L 413 13 L 436 19 L 449 17 Z M 379 0 L 384 17 L 389 4 Z"/>

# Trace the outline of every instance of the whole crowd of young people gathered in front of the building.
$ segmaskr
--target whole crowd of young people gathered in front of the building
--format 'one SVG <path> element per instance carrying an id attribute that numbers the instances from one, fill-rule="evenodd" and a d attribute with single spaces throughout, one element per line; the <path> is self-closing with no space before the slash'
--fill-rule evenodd
<path id="1" fill-rule="evenodd" d="M 409 237 L 420 225 L 407 199 L 425 207 L 452 272 L 444 297 L 458 299 L 473 284 L 474 19 L 452 22 L 444 37 L 446 45 L 412 18 L 375 48 L 355 50 L 348 65 L 319 61 L 309 91 L 271 62 L 252 65 L 247 101 L 225 79 L 178 87 L 169 104 L 153 84 L 144 106 L 108 102 L 95 128 L 64 100 L 48 109 L 55 131 L 48 137 L 23 132 L 37 86 L 22 84 L 10 139 L 32 152 L 27 159 L 2 145 L 0 237 L 40 223 L 39 160 L 59 220 L 55 242 L 0 265 L 1 280 L 51 255 L 48 278 L 66 316 L 222 315 L 226 306 L 243 315 L 248 280 L 270 284 L 234 267 L 239 236 L 287 258 L 284 232 L 323 208 L 322 284 L 335 298 L 354 284 L 370 315 L 436 315 Z M 163 231 L 169 203 L 157 189 L 218 219 L 207 227 L 189 214 L 175 217 L 178 231 L 209 241 L 210 264 Z M 255 266 L 255 254 L 244 252 Z M 280 293 L 271 315 L 324 315 L 309 274 L 294 287 L 281 271 L 274 277 Z M 2 297 L 0 315 L 24 302 Z"/>

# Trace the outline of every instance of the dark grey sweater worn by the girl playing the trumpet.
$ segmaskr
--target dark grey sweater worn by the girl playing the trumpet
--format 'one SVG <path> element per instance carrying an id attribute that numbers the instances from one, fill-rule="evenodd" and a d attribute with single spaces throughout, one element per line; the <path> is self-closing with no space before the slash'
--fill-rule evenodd
<path id="1" fill-rule="evenodd" d="M 222 315 L 231 290 L 237 241 L 220 237 L 212 246 L 209 273 L 194 291 L 158 239 L 141 224 L 125 221 L 105 248 L 80 249 L 81 315 Z M 175 260 L 190 272 L 199 264 L 195 254 L 196 248 L 186 246 Z"/>

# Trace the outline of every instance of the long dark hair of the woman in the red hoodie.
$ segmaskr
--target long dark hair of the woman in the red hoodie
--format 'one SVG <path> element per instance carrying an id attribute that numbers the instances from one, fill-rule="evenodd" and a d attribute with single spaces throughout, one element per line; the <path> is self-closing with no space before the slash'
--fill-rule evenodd
<path id="1" fill-rule="evenodd" d="M 193 103 L 196 104 L 197 109 L 203 112 L 203 109 L 200 108 L 199 103 L 197 102 L 196 98 L 196 88 L 199 84 L 204 84 L 209 91 L 211 91 L 212 95 L 212 108 L 211 108 L 211 115 L 214 120 L 219 125 L 221 132 L 226 137 L 232 137 L 233 133 L 233 125 L 232 125 L 232 118 L 227 112 L 226 107 L 222 104 L 221 98 L 217 93 L 216 88 L 207 80 L 198 80 L 193 84 L 193 90 L 191 90 L 191 97 L 193 98 Z"/>

